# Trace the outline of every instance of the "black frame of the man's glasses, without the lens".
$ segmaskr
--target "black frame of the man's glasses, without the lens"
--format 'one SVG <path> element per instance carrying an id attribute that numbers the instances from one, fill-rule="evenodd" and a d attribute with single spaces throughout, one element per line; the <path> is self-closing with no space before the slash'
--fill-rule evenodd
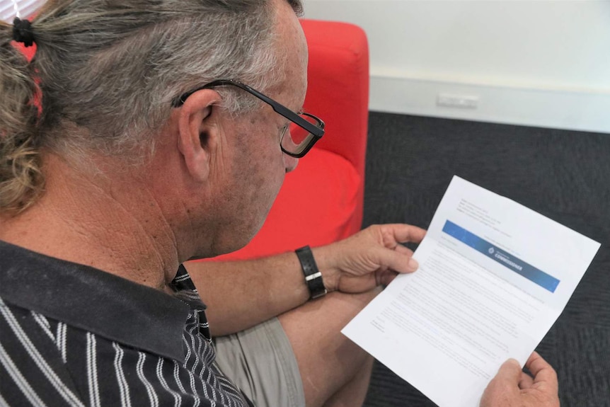
<path id="1" fill-rule="evenodd" d="M 270 105 L 271 108 L 275 111 L 275 113 L 284 116 L 285 118 L 293 122 L 295 125 L 303 128 L 306 132 L 309 132 L 309 134 L 311 134 L 312 137 L 311 139 L 309 139 L 309 142 L 307 142 L 306 146 L 298 153 L 293 153 L 291 151 L 285 150 L 284 147 L 282 147 L 282 140 L 284 139 L 284 134 L 286 133 L 288 126 L 284 127 L 284 130 L 282 130 L 282 140 L 280 140 L 280 148 L 282 149 L 282 152 L 284 152 L 284 154 L 288 154 L 289 156 L 300 159 L 305 154 L 307 154 L 309 150 L 311 150 L 311 147 L 313 147 L 313 144 L 316 144 L 316 142 L 324 135 L 324 122 L 319 117 L 310 115 L 309 113 L 301 113 L 302 115 L 311 117 L 317 122 L 317 125 L 313 125 L 312 123 L 301 117 L 299 114 L 295 113 L 293 110 L 290 110 L 281 103 L 274 101 L 269 96 L 265 96 L 263 95 L 263 93 L 260 93 L 256 89 L 251 88 L 246 84 L 242 84 L 240 81 L 234 81 L 232 79 L 217 79 L 216 81 L 209 82 L 209 84 L 205 84 L 203 86 L 200 86 L 199 88 L 195 88 L 192 91 L 185 92 L 177 98 L 173 98 L 173 100 L 171 101 L 171 105 L 173 108 L 179 108 L 193 93 L 201 91 L 202 89 L 215 88 L 218 86 L 236 86 L 242 89 L 243 91 L 250 93 L 251 95 L 259 98 L 261 101 L 267 103 L 267 105 Z"/>

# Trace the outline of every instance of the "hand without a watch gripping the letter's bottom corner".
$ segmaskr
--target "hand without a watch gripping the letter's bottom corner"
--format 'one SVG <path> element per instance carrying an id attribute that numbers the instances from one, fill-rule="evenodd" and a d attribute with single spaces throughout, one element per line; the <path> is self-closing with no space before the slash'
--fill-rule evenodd
<path id="1" fill-rule="evenodd" d="M 525 366 L 534 377 L 524 373 L 516 360 L 504 362 L 485 389 L 480 407 L 559 407 L 553 367 L 536 352 Z"/>

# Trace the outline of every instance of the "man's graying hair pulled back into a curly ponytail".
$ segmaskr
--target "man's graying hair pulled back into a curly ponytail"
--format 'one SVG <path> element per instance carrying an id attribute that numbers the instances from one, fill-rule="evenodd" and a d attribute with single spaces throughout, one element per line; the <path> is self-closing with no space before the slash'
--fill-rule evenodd
<path id="1" fill-rule="evenodd" d="M 28 64 L 0 23 L 0 213 L 44 190 L 42 149 L 71 161 L 83 151 L 143 158 L 181 93 L 214 79 L 263 92 L 279 83 L 274 26 L 271 0 L 49 0 L 32 23 Z M 232 113 L 258 106 L 219 93 Z"/>

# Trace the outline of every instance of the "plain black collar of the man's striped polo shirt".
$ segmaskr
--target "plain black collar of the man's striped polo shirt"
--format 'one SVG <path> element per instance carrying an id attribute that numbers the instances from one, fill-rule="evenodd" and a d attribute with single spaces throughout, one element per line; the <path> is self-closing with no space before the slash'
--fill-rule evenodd
<path id="1" fill-rule="evenodd" d="M 180 265 L 172 284 L 194 290 Z M 98 336 L 183 361 L 183 329 L 197 299 L 159 290 L 86 265 L 0 241 L 0 297 Z M 196 297 L 196 296 L 195 296 Z M 185 299 L 187 298 L 187 299 Z"/>

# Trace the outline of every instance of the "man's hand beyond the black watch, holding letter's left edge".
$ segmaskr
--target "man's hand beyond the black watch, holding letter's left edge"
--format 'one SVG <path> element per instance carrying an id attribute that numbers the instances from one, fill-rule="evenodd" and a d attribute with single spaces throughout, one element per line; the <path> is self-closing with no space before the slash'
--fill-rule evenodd
<path id="1" fill-rule="evenodd" d="M 425 233 L 408 224 L 374 225 L 343 241 L 314 248 L 326 289 L 365 292 L 388 285 L 398 273 L 417 270 L 413 251 L 401 243 L 420 243 Z"/>

